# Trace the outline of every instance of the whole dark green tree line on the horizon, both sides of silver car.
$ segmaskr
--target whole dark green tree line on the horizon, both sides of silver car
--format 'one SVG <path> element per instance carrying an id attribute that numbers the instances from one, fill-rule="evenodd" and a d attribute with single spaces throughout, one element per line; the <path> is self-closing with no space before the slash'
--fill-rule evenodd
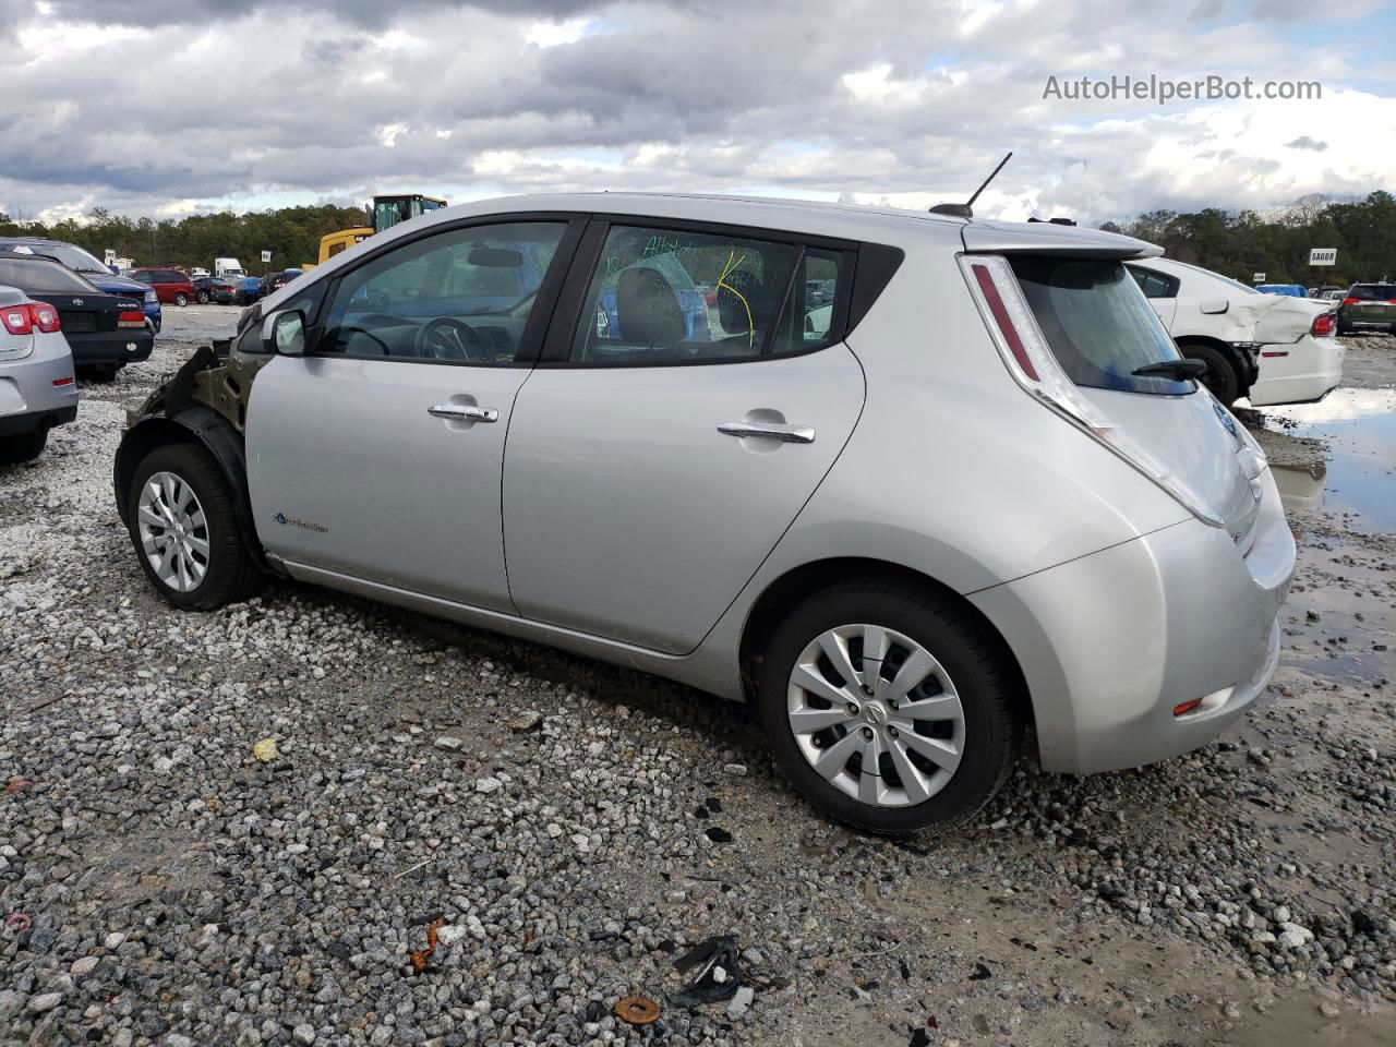
<path id="1" fill-rule="evenodd" d="M 364 223 L 359 208 L 288 207 L 244 215 L 219 212 L 155 222 L 130 219 L 92 208 L 82 219 L 14 222 L 0 214 L 0 236 L 46 236 L 88 248 L 106 248 L 137 265 L 202 265 L 215 257 L 239 258 L 258 271 L 261 251 L 271 251 L 272 269 L 313 262 L 320 237 Z M 1205 208 L 1196 212 L 1150 211 L 1131 222 L 1106 222 L 1101 229 L 1128 233 L 1164 248 L 1170 258 L 1202 265 L 1249 283 L 1263 272 L 1269 283 L 1347 286 L 1396 278 L 1396 198 L 1385 190 L 1362 200 L 1330 201 L 1308 195 L 1279 212 Z M 1336 247 L 1337 264 L 1309 268 L 1311 247 Z"/>

